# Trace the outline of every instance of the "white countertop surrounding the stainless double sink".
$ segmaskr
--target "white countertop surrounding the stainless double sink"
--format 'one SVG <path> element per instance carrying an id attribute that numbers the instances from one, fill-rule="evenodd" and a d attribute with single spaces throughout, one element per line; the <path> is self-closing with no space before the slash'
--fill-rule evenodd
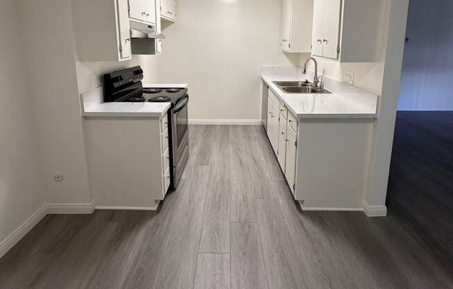
<path id="1" fill-rule="evenodd" d="M 261 74 L 261 79 L 298 118 L 377 118 L 376 94 L 336 81 L 326 87 L 331 94 L 285 93 L 273 81 L 305 81 L 285 74 Z"/>

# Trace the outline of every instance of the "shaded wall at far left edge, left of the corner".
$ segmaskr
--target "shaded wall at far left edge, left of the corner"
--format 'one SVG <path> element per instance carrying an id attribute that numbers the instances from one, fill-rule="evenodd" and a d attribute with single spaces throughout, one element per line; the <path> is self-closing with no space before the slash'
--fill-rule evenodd
<path id="1" fill-rule="evenodd" d="M 2 241 L 44 204 L 33 96 L 24 77 L 14 2 L 0 0 L 0 256 Z"/>

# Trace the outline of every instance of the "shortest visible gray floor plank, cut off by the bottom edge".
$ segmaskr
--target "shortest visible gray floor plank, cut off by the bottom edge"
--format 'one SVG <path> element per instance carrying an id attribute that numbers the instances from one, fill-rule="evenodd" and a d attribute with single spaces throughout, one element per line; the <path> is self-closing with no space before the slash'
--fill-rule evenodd
<path id="1" fill-rule="evenodd" d="M 230 255 L 199 254 L 195 289 L 230 288 Z"/>

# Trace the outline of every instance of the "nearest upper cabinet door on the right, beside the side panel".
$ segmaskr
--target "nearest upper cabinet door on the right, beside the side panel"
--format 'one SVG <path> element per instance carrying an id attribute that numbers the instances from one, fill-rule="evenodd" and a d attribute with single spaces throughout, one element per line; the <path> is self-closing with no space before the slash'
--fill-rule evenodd
<path id="1" fill-rule="evenodd" d="M 329 0 L 329 5 L 323 5 L 323 9 L 324 38 L 322 40 L 322 55 L 336 59 L 338 58 L 337 49 L 340 41 L 341 0 Z"/>

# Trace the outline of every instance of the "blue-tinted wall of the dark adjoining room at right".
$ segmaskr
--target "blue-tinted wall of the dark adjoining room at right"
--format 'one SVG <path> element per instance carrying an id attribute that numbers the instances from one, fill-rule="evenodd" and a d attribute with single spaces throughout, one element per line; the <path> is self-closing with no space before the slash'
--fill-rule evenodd
<path id="1" fill-rule="evenodd" d="M 411 0 L 399 110 L 453 110 L 453 1 Z"/>

